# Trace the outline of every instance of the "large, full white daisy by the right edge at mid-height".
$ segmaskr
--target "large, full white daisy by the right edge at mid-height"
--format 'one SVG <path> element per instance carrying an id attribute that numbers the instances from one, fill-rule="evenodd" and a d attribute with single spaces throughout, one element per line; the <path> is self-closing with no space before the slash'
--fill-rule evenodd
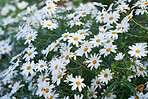
<path id="1" fill-rule="evenodd" d="M 128 53 L 136 58 L 141 58 L 148 53 L 146 47 L 147 45 L 145 43 L 136 43 L 136 45 L 129 46 L 131 50 Z"/>

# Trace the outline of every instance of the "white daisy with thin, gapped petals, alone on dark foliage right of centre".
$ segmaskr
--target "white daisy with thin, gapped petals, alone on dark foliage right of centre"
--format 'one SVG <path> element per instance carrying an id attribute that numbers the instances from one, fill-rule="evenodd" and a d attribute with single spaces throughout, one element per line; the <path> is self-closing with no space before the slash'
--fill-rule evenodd
<path id="1" fill-rule="evenodd" d="M 100 62 L 102 62 L 102 60 L 100 60 L 101 56 L 98 56 L 97 54 L 94 55 L 90 55 L 91 57 L 89 58 L 89 60 L 86 60 L 86 63 L 89 63 L 88 67 L 91 67 L 90 69 L 92 70 L 93 67 L 95 67 L 96 69 L 98 68 L 98 66 L 100 65 Z"/>

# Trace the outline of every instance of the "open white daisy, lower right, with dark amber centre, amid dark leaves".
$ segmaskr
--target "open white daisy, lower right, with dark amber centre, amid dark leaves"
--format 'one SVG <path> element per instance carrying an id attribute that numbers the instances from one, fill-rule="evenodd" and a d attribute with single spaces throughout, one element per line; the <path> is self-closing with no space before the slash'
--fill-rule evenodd
<path id="1" fill-rule="evenodd" d="M 112 77 L 113 74 L 114 73 L 111 73 L 111 70 L 109 70 L 109 69 L 102 70 L 101 73 L 98 75 L 100 82 L 108 84 L 108 81 L 113 79 L 113 77 Z"/>

